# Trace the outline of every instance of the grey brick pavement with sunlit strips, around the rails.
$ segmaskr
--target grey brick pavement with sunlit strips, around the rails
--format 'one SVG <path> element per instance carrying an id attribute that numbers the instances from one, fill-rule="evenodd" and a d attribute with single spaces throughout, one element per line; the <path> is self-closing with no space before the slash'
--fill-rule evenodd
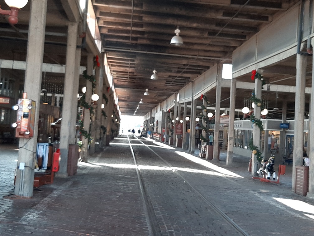
<path id="1" fill-rule="evenodd" d="M 235 158 L 226 167 L 224 161 L 202 159 L 213 164 L 209 168 L 191 161 L 199 158 L 188 160 L 175 149 L 141 141 L 173 166 L 132 139 L 140 144 L 133 148 L 162 235 L 238 235 L 177 173 L 250 235 L 314 235 L 314 202 L 292 193 L 288 178 L 281 185 L 261 183 L 251 179 L 246 160 L 244 165 Z M 76 176 L 56 178 L 27 200 L 2 199 L 13 191 L 17 151 L 0 146 L 0 235 L 149 235 L 127 139 L 112 143 L 89 163 L 79 163 Z M 243 178 L 221 174 L 215 166 Z"/>

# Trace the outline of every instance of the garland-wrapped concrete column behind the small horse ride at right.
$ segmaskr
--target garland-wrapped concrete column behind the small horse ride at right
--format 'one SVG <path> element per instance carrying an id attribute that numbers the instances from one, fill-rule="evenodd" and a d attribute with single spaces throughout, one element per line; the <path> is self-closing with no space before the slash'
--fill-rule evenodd
<path id="1" fill-rule="evenodd" d="M 255 79 L 255 90 L 254 90 L 256 98 L 261 99 L 262 98 L 262 81 L 260 79 Z M 254 106 L 254 116 L 257 119 L 261 119 L 261 107 Z M 260 136 L 261 136 L 261 130 L 258 128 L 257 125 L 253 125 L 253 132 L 252 132 L 252 138 L 253 138 L 253 145 L 257 146 L 258 149 L 261 149 L 260 146 Z M 256 155 L 251 153 L 252 155 L 252 175 L 257 175 L 257 167 L 258 167 L 258 161 L 256 158 Z"/>

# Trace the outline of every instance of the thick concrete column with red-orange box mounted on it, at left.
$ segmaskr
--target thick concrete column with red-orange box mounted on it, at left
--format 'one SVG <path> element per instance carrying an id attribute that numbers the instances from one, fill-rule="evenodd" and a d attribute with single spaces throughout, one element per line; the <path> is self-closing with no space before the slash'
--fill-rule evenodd
<path id="1" fill-rule="evenodd" d="M 30 23 L 27 41 L 26 70 L 24 92 L 27 98 L 36 102 L 34 138 L 19 139 L 19 163 L 25 163 L 25 169 L 17 169 L 14 194 L 23 197 L 33 196 L 35 153 L 37 149 L 42 62 L 44 55 L 47 0 L 33 0 L 30 6 Z M 29 167 L 26 167 L 29 166 Z"/>

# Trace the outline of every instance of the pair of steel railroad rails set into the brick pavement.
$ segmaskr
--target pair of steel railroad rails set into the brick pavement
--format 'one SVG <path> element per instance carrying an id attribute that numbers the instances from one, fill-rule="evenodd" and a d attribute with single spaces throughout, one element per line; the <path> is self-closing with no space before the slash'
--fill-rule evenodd
<path id="1" fill-rule="evenodd" d="M 135 136 L 134 136 L 135 137 Z M 168 166 L 169 168 L 172 168 L 173 166 L 164 158 L 162 158 L 158 153 L 156 153 L 153 149 L 151 149 L 148 145 L 146 145 L 145 143 L 143 143 L 140 139 L 138 139 L 137 137 L 135 137 L 139 142 L 141 142 L 143 144 L 143 146 L 145 146 L 147 149 L 149 149 L 152 153 L 154 153 L 160 160 L 162 160 L 165 163 L 165 166 Z M 134 153 L 133 150 L 133 146 L 131 143 L 131 140 L 129 138 L 129 136 L 127 136 L 129 145 L 130 145 L 130 149 L 133 155 L 133 160 L 134 160 L 134 164 L 136 166 L 138 166 L 137 163 L 137 158 L 136 155 Z M 143 178 L 141 176 L 141 171 L 139 170 L 139 168 L 136 168 L 136 172 L 137 172 L 137 177 L 138 177 L 138 183 L 141 189 L 141 194 L 143 197 L 143 205 L 144 205 L 144 211 L 147 217 L 147 224 L 149 227 L 149 233 L 151 235 L 161 235 L 160 233 L 160 228 L 156 219 L 156 216 L 154 214 L 154 209 L 152 207 L 152 204 L 150 202 L 149 199 L 149 195 L 146 191 L 145 188 L 145 184 L 143 182 Z M 187 183 L 189 185 L 189 187 L 194 191 L 195 194 L 197 194 L 204 202 L 204 204 L 208 205 L 212 210 L 214 210 L 215 212 L 217 212 L 219 214 L 219 216 L 221 217 L 221 219 L 223 219 L 225 222 L 227 222 L 235 231 L 237 231 L 240 235 L 245 235 L 248 236 L 249 234 L 246 233 L 246 231 L 244 229 L 242 229 L 238 224 L 236 224 L 236 222 L 234 222 L 229 216 L 227 216 L 223 211 L 221 211 L 216 205 L 214 205 L 210 200 L 208 200 L 203 194 L 201 194 L 191 183 L 189 183 L 189 181 L 183 177 L 178 171 L 175 171 L 175 173 L 183 180 L 185 181 L 185 183 Z"/>

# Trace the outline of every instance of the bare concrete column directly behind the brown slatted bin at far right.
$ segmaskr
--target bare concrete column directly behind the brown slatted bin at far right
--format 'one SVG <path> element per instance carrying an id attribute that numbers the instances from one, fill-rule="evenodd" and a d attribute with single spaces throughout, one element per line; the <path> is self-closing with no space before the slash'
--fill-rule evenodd
<path id="1" fill-rule="evenodd" d="M 292 191 L 295 190 L 295 166 L 302 165 L 303 162 L 306 65 L 307 56 L 297 54 L 295 76 L 295 128 L 293 142 Z"/>

